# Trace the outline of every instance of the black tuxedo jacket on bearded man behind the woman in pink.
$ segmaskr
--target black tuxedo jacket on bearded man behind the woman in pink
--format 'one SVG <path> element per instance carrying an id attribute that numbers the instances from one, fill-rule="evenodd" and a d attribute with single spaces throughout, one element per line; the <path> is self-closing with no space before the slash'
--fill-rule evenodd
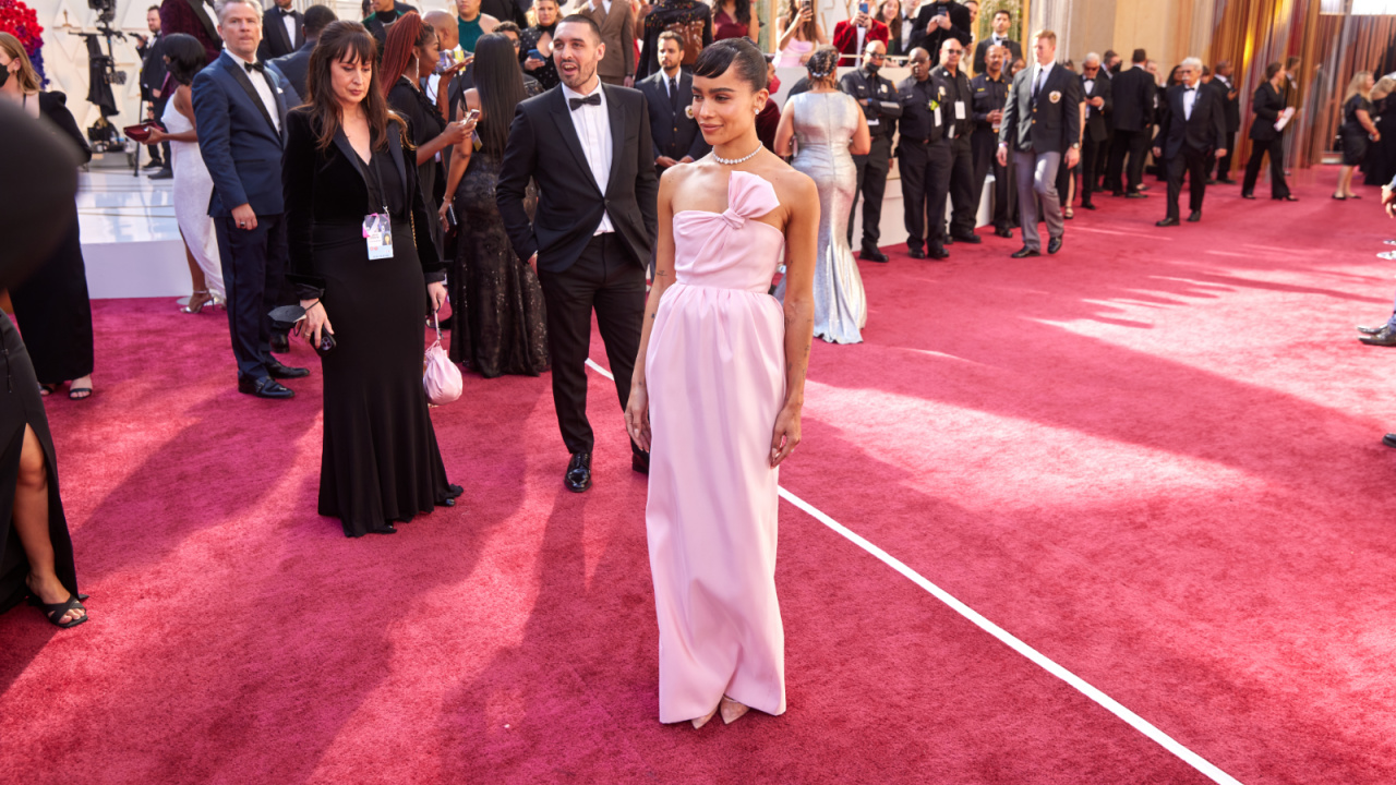
<path id="1" fill-rule="evenodd" d="M 639 267 L 659 228 L 659 177 L 655 175 L 649 109 L 638 89 L 602 82 L 610 119 L 611 170 L 606 191 L 592 177 L 561 87 L 519 103 L 497 187 L 500 217 L 521 260 L 537 254 L 539 270 L 561 272 L 586 249 L 609 215 Z M 537 182 L 536 219 L 524 210 L 529 180 Z"/>

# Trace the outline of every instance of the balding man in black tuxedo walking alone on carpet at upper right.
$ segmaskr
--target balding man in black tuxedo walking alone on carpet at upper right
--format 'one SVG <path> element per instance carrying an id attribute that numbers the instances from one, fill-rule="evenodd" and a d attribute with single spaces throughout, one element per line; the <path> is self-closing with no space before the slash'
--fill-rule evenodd
<path id="1" fill-rule="evenodd" d="M 1168 215 L 1157 226 L 1178 225 L 1178 197 L 1182 193 L 1182 172 L 1188 173 L 1189 222 L 1202 221 L 1202 197 L 1208 191 L 1208 161 L 1226 155 L 1224 98 L 1203 84 L 1202 60 L 1188 57 L 1178 66 L 1175 84 L 1164 94 L 1168 112 L 1159 127 L 1159 145 L 1153 156 L 1168 162 Z"/>

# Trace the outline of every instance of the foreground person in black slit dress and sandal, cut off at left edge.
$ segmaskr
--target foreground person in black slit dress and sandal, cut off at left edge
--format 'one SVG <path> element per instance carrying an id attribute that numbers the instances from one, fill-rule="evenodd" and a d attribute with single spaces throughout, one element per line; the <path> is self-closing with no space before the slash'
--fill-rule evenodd
<path id="1" fill-rule="evenodd" d="M 0 46 L 3 36 L 0 34 Z M 11 60 L 13 61 L 13 60 Z M 36 82 L 32 68 L 0 70 L 4 82 Z M 3 82 L 0 82 L 3 84 Z M 77 166 L 87 154 L 49 123 L 27 117 L 20 103 L 0 99 L 4 149 L 0 183 L 22 183 L 24 200 L 0 212 L 0 288 L 13 286 L 61 242 L 67 228 L 54 215 L 71 210 Z M 87 620 L 78 594 L 73 541 L 59 497 L 57 462 L 49 420 L 20 331 L 0 313 L 0 613 L 29 598 L 49 622 L 73 627 Z"/>

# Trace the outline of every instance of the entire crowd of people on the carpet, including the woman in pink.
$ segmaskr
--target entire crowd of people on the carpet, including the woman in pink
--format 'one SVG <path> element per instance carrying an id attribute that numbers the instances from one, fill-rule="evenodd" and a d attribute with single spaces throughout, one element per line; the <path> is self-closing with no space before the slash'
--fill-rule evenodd
<path id="1" fill-rule="evenodd" d="M 1160 228 L 1180 223 L 1184 179 L 1192 222 L 1209 184 L 1233 183 L 1230 63 L 1189 57 L 1160 84 L 1138 49 L 1128 64 L 1090 53 L 1078 71 L 1050 31 L 1026 52 L 1011 41 L 1008 11 L 974 41 L 973 3 L 863 3 L 831 41 L 812 4 L 790 0 L 773 57 L 754 43 L 747 0 L 456 0 L 454 14 L 370 0 L 363 13 L 151 8 L 142 89 L 162 120 L 156 175 L 174 180 L 184 310 L 226 309 L 248 395 L 289 399 L 283 383 L 311 373 L 275 356 L 290 334 L 318 353 L 318 511 L 348 536 L 394 534 L 463 493 L 422 388 L 423 318 L 447 303 L 454 360 L 484 377 L 551 372 L 563 482 L 586 492 L 595 317 L 631 467 L 649 475 L 664 722 L 785 711 L 776 469 L 800 443 L 812 337 L 853 344 L 867 327 L 853 226 L 861 201 L 857 257 L 888 263 L 893 161 L 913 260 L 980 243 L 990 184 L 990 223 L 1019 230 L 1012 256 L 1025 258 L 1060 253 L 1075 207 L 1103 207 L 1096 194 L 1148 198 L 1150 161 L 1167 183 Z M 884 68 L 898 59 L 910 75 L 893 84 Z M 783 106 L 776 64 L 805 70 Z M 1297 66 L 1270 64 L 1254 96 L 1247 198 L 1266 156 L 1272 197 L 1295 198 L 1283 141 Z M 61 94 L 39 89 L 4 34 L 0 68 L 0 95 L 87 151 Z M 1396 186 L 1382 169 L 1396 168 L 1393 84 L 1362 71 L 1349 85 L 1333 198 L 1358 196 L 1364 165 L 1368 182 Z M 10 525 L 24 545 L 0 575 L 28 581 L 0 587 L 0 603 L 31 596 L 60 626 L 87 612 L 38 401 L 64 381 L 73 398 L 92 391 L 75 226 L 10 289 L 24 342 L 0 320 L 7 356 L 32 358 L 34 374 L 32 395 L 0 406 L 17 434 L 0 469 L 17 478 Z M 1393 324 L 1371 338 L 1396 344 Z M 695 589 L 715 585 L 741 591 Z"/>

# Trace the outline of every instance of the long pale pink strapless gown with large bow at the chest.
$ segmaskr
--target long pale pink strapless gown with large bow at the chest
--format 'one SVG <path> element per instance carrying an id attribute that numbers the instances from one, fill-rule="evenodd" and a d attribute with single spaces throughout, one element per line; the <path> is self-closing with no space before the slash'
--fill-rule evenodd
<path id="1" fill-rule="evenodd" d="M 733 172 L 726 212 L 674 215 L 676 282 L 649 337 L 649 567 L 659 612 L 659 721 L 726 693 L 785 704 L 771 432 L 785 405 L 785 317 L 766 292 L 785 235 L 752 218 L 775 189 Z"/>

